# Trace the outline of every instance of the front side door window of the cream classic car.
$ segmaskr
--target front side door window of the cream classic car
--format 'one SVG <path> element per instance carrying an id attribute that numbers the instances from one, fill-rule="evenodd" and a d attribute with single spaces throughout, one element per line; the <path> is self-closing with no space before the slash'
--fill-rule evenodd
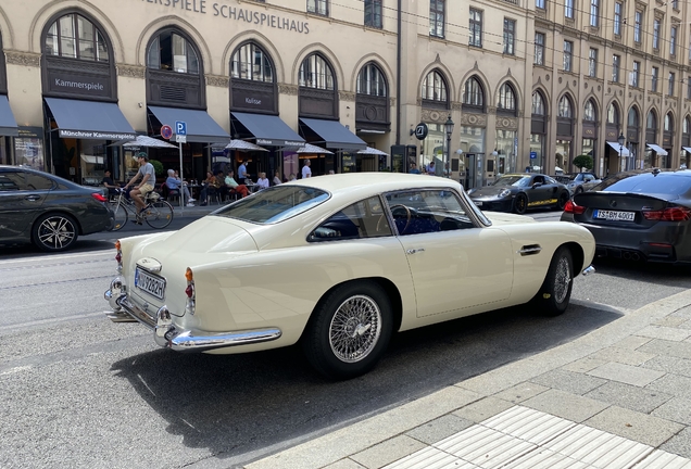
<path id="1" fill-rule="evenodd" d="M 401 236 L 475 228 L 453 191 L 412 190 L 387 194 L 386 200 Z"/>

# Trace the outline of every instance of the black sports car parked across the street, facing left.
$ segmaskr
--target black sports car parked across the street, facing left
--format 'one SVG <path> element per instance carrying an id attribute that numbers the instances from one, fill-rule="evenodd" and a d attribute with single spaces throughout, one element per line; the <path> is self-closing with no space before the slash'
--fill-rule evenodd
<path id="1" fill-rule="evenodd" d="M 563 210 L 570 198 L 566 186 L 543 174 L 507 174 L 468 195 L 483 211 L 526 213 L 529 208 Z"/>

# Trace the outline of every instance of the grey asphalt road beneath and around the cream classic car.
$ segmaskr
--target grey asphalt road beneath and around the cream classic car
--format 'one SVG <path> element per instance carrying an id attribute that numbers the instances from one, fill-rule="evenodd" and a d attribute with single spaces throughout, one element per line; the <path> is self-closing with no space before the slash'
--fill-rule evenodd
<path id="1" fill-rule="evenodd" d="M 568 342 L 690 277 L 601 262 L 557 318 L 517 307 L 401 333 L 373 372 L 329 382 L 298 347 L 183 355 L 142 326 L 105 319 L 122 234 L 86 237 L 68 254 L 0 252 L 0 467 L 240 467 Z"/>

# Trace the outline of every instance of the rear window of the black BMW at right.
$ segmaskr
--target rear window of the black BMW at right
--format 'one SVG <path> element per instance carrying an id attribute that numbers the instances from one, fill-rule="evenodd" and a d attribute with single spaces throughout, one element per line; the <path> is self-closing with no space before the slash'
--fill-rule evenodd
<path id="1" fill-rule="evenodd" d="M 691 190 L 691 174 L 682 176 L 674 173 L 643 173 L 627 178 L 605 179 L 594 190 L 608 192 L 633 192 L 645 194 L 681 195 Z"/>

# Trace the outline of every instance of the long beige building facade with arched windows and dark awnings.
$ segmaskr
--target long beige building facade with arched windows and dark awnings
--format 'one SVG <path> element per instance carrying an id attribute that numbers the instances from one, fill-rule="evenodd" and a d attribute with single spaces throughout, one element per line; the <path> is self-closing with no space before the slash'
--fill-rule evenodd
<path id="1" fill-rule="evenodd" d="M 678 167 L 687 14 L 656 0 L 9 2 L 0 164 L 98 183 L 105 168 L 131 176 L 141 150 L 192 179 L 243 160 L 284 177 L 305 159 L 315 174 L 435 161 L 467 187 L 573 170 L 579 154 L 601 174 Z M 129 143 L 177 122 L 175 148 Z"/>

